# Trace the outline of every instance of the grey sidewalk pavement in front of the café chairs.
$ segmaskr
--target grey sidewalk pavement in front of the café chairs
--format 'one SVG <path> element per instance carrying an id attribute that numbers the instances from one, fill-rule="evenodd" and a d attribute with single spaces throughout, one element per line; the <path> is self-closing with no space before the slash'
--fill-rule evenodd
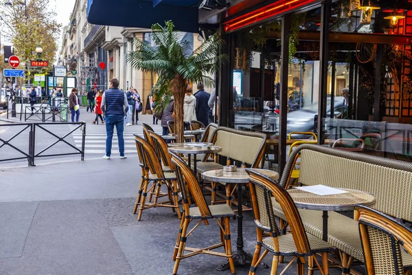
<path id="1" fill-rule="evenodd" d="M 172 274 L 180 221 L 169 208 L 159 207 L 144 210 L 137 221 L 132 212 L 140 180 L 137 156 L 0 166 L 0 274 Z M 251 212 L 244 216 L 244 247 L 253 254 L 255 225 Z M 236 236 L 232 220 L 232 251 Z M 201 224 L 187 242 L 206 246 L 218 238 L 211 221 Z M 271 265 L 271 259 L 268 255 L 264 262 Z M 224 262 L 216 256 L 194 256 L 181 261 L 179 274 L 230 274 L 216 271 Z M 236 268 L 236 274 L 248 273 L 249 265 Z M 270 270 L 259 269 L 258 274 Z M 296 274 L 295 265 L 286 274 Z"/>

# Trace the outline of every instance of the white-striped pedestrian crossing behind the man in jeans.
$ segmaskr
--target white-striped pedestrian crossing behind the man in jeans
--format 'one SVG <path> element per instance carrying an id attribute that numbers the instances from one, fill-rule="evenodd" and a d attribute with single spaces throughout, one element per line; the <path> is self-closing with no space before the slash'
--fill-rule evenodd
<path id="1" fill-rule="evenodd" d="M 159 125 L 150 125 L 156 133 L 161 134 L 162 128 Z M 71 129 L 75 129 L 76 126 L 71 126 Z M 133 134 L 140 135 L 143 137 L 143 128 L 141 124 L 133 126 L 124 126 L 124 153 L 126 155 L 137 154 L 135 137 Z M 80 150 L 82 149 L 82 131 L 75 131 L 72 133 L 76 147 Z M 106 126 L 105 125 L 86 125 L 86 140 L 84 142 L 84 153 L 85 154 L 101 154 L 106 153 Z M 119 153 L 119 142 L 117 140 L 117 132 L 113 134 L 112 143 L 112 155 L 117 155 Z"/>

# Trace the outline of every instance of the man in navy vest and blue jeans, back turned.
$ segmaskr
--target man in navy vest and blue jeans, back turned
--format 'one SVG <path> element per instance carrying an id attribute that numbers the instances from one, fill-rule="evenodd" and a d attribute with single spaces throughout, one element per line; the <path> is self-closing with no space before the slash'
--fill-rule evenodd
<path id="1" fill-rule="evenodd" d="M 104 92 L 102 98 L 102 111 L 105 114 L 106 122 L 106 155 L 104 159 L 110 159 L 113 131 L 116 126 L 117 140 L 119 141 L 120 158 L 125 159 L 124 155 L 124 114 L 128 111 L 128 102 L 126 94 L 119 90 L 119 80 L 113 78 L 110 80 L 110 89 Z"/>

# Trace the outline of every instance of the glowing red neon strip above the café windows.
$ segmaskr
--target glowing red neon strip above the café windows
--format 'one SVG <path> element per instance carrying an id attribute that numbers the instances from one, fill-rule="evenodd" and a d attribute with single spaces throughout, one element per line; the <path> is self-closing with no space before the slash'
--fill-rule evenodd
<path id="1" fill-rule="evenodd" d="M 276 3 L 272 3 L 270 5 L 266 5 L 263 8 L 258 10 L 253 10 L 253 12 L 249 12 L 247 14 L 242 15 L 236 19 L 232 19 L 227 21 L 225 24 L 225 31 L 231 32 L 238 28 L 242 28 L 244 26 L 250 25 L 251 23 L 256 23 L 267 19 L 269 17 L 273 17 L 277 14 L 282 14 L 287 12 L 288 10 L 292 10 L 293 8 L 298 8 L 308 3 L 312 3 L 315 0 L 284 0 L 284 1 L 277 1 Z M 283 2 L 283 3 L 279 3 Z"/>

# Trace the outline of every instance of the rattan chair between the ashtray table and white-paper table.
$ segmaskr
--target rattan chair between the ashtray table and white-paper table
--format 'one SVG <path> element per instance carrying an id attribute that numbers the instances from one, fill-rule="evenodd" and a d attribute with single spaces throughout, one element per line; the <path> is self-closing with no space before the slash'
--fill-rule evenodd
<path id="1" fill-rule="evenodd" d="M 258 267 L 268 252 L 273 253 L 271 274 L 277 274 L 277 265 L 281 256 L 293 256 L 292 261 L 286 266 L 285 270 L 290 267 L 293 261 L 297 260 L 298 275 L 304 275 L 305 256 L 308 256 L 310 271 L 314 269 L 314 264 L 316 263 L 321 274 L 329 274 L 328 252 L 331 252 L 334 248 L 317 236 L 305 232 L 304 224 L 301 221 L 295 203 L 293 203 L 292 198 L 284 188 L 271 178 L 260 173 L 257 169 L 248 168 L 247 173 L 249 173 L 251 178 L 251 199 L 258 235 L 258 243 L 253 255 L 249 275 L 255 274 L 256 267 Z M 273 212 L 272 195 L 279 202 L 286 215 L 286 220 L 290 226 L 289 234 L 282 235 L 279 232 L 279 228 L 277 228 L 275 213 Z M 264 231 L 269 232 L 271 236 L 263 238 Z M 265 251 L 260 256 L 262 246 L 265 248 Z M 322 254 L 322 266 L 316 258 L 317 253 Z"/>

